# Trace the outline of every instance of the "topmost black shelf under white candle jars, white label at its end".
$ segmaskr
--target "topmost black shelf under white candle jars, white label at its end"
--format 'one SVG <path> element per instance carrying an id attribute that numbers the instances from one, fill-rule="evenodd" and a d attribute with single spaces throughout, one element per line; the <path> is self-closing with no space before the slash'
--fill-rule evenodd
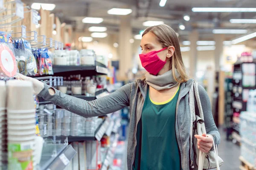
<path id="1" fill-rule="evenodd" d="M 53 65 L 54 75 L 102 75 L 108 74 L 108 68 L 100 62 L 95 65 Z"/>

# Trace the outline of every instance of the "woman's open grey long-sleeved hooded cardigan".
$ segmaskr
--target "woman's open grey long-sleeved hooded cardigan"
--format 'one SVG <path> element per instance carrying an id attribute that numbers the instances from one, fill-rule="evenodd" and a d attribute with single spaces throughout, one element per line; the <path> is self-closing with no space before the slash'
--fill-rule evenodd
<path id="1" fill-rule="evenodd" d="M 183 170 L 189 170 L 189 133 L 190 133 L 190 109 L 189 109 L 189 89 L 193 79 L 189 79 L 180 85 L 180 93 L 176 106 L 175 131 L 177 142 L 180 149 L 181 165 Z M 132 170 L 134 163 L 135 149 L 137 145 L 136 133 L 137 124 L 140 120 L 145 95 L 147 94 L 148 85 L 143 80 L 129 83 L 122 86 L 112 94 L 96 99 L 94 101 L 85 101 L 67 94 L 63 94 L 55 89 L 55 94 L 49 94 L 51 86 L 44 85 L 44 89 L 38 96 L 60 106 L 68 111 L 76 113 L 83 117 L 102 116 L 108 113 L 119 111 L 125 106 L 130 106 L 130 126 L 128 136 L 127 166 Z M 220 134 L 212 117 L 212 110 L 207 96 L 207 92 L 202 86 L 198 87 L 201 104 L 204 112 L 204 121 L 207 134 L 211 134 L 215 144 L 220 142 Z M 198 113 L 198 111 L 197 111 Z M 152 146 L 155 147 L 155 146 Z M 160 148 L 164 149 L 164 148 Z M 171 153 L 170 153 L 171 154 Z M 192 152 L 192 158 L 193 152 Z M 195 162 L 195 160 L 194 160 Z M 195 168 L 197 169 L 197 167 Z"/>

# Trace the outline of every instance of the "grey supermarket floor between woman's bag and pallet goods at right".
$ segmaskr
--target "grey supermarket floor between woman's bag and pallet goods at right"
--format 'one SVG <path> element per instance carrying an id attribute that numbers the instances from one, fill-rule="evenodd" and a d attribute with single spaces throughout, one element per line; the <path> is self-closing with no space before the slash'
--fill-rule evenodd
<path id="1" fill-rule="evenodd" d="M 240 147 L 226 140 L 226 132 L 222 128 L 219 128 L 219 132 L 221 134 L 221 144 L 218 146 L 218 155 L 224 161 L 221 170 L 240 170 Z"/>

